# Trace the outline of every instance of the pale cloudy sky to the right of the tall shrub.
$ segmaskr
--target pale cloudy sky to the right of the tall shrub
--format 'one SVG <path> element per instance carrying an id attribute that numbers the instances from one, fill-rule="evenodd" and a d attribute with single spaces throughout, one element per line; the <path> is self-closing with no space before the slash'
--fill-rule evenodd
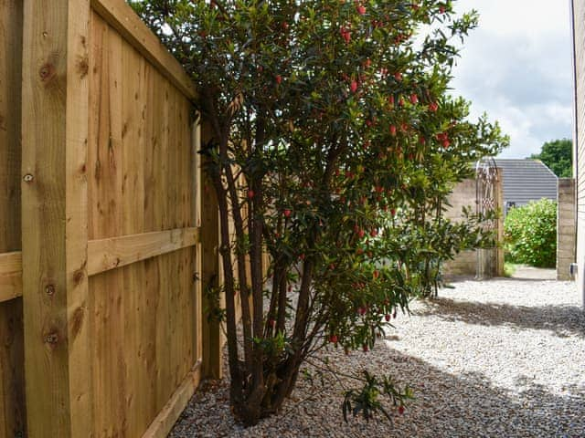
<path id="1" fill-rule="evenodd" d="M 545 141 L 572 138 L 573 77 L 569 0 L 459 0 L 479 27 L 453 69 L 453 94 L 472 101 L 471 116 L 498 120 L 510 147 L 527 158 Z"/>

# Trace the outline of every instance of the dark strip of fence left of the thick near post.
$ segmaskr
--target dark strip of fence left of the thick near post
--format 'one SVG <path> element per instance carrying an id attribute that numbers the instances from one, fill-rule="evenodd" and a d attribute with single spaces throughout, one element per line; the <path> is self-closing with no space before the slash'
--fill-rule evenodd
<path id="1" fill-rule="evenodd" d="M 0 2 L 0 436 L 26 433 L 20 165 L 22 0 Z M 3 302 L 5 301 L 5 302 Z"/>

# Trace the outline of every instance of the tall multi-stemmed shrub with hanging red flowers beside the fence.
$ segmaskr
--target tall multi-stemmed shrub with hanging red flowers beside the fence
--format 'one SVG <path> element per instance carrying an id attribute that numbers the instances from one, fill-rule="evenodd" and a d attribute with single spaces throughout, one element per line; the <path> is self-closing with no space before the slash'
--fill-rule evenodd
<path id="1" fill-rule="evenodd" d="M 315 349 L 369 349 L 407 308 L 417 276 L 387 261 L 396 234 L 381 212 L 402 212 L 401 242 L 424 248 L 410 212 L 504 146 L 497 125 L 466 120 L 468 104 L 446 94 L 452 38 L 476 16 L 451 0 L 131 3 L 193 78 L 209 127 L 200 153 L 218 197 L 230 402 L 254 424 L 279 411 Z M 363 406 L 359 393 L 346 408 Z"/>

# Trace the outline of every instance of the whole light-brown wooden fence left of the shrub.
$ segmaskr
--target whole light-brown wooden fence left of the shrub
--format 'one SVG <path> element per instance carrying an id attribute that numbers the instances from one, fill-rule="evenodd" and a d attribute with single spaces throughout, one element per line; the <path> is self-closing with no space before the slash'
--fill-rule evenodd
<path id="1" fill-rule="evenodd" d="M 0 1 L 0 436 L 165 436 L 220 373 L 195 97 L 123 0 Z"/>

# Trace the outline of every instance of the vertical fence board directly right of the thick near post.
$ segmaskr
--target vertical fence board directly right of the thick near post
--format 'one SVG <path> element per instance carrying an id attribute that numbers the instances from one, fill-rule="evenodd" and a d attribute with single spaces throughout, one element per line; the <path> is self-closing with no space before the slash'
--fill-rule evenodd
<path id="1" fill-rule="evenodd" d="M 91 16 L 90 236 L 122 230 L 122 39 Z M 126 425 L 123 351 L 123 275 L 114 270 L 90 279 L 95 432 L 122 435 Z"/>

